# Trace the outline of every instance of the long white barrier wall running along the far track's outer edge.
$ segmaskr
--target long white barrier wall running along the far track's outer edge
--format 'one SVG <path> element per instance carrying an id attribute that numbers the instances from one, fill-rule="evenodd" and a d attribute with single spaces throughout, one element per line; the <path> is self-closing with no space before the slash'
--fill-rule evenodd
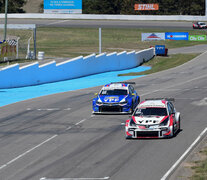
<path id="1" fill-rule="evenodd" d="M 0 14 L 0 18 L 4 18 Z M 12 19 L 91 19 L 91 20 L 158 20 L 158 21 L 207 21 L 207 16 L 188 15 L 99 15 L 99 14 L 42 14 L 22 13 L 8 14 Z"/>

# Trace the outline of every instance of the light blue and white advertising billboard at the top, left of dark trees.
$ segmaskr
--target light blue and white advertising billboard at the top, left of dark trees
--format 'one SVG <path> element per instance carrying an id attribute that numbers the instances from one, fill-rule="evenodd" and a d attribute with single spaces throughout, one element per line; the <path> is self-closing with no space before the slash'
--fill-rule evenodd
<path id="1" fill-rule="evenodd" d="M 44 0 L 44 13 L 81 14 L 82 0 Z"/>

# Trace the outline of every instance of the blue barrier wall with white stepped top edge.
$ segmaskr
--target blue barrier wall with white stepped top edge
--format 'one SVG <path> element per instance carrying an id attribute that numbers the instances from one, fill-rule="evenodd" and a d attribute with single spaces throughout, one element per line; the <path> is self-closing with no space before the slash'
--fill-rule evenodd
<path id="1" fill-rule="evenodd" d="M 55 61 L 39 66 L 38 62 L 23 66 L 11 65 L 0 70 L 0 88 L 15 88 L 74 79 L 87 75 L 130 69 L 154 56 L 154 48 L 139 52 L 91 54 L 56 64 Z"/>

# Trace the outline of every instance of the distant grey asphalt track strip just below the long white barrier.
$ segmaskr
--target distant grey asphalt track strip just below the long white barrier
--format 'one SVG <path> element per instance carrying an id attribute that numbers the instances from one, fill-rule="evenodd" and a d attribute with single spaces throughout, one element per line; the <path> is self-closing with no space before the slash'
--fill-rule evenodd
<path id="1" fill-rule="evenodd" d="M 4 24 L 4 19 L 0 20 L 0 24 Z M 8 24 L 36 24 L 37 27 L 192 29 L 192 22 L 189 21 L 8 19 Z"/>

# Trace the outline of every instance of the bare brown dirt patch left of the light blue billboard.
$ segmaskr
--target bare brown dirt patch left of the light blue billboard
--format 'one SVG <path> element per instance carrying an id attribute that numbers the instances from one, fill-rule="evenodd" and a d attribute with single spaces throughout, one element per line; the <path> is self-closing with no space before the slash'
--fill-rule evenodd
<path id="1" fill-rule="evenodd" d="M 27 0 L 23 9 L 26 13 L 40 13 L 40 5 L 43 0 Z"/>

